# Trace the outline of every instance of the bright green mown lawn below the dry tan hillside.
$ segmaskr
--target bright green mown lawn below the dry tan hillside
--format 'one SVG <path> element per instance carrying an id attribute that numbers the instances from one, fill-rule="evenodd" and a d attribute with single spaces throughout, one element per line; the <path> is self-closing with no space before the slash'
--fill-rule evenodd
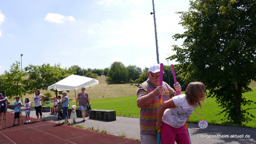
<path id="1" fill-rule="evenodd" d="M 183 92 L 184 93 L 184 92 Z M 243 94 L 248 100 L 256 102 L 256 88 L 253 91 Z M 91 100 L 92 109 L 104 109 L 104 110 L 115 110 L 117 116 L 127 117 L 139 117 L 140 108 L 136 104 L 137 96 L 111 98 L 111 99 L 99 99 Z M 75 102 L 70 102 L 70 106 L 75 105 Z M 207 98 L 206 103 L 202 103 L 203 108 L 197 108 L 201 119 L 205 119 L 210 125 L 223 125 L 221 119 L 224 118 L 224 114 L 216 115 L 220 112 L 218 104 L 215 102 L 215 98 Z M 245 108 L 256 107 L 256 104 L 246 106 Z M 255 110 L 249 110 L 251 114 L 256 116 Z M 193 112 L 189 118 L 189 123 L 198 123 L 199 117 Z M 252 118 L 247 127 L 256 128 L 256 118 Z"/>

